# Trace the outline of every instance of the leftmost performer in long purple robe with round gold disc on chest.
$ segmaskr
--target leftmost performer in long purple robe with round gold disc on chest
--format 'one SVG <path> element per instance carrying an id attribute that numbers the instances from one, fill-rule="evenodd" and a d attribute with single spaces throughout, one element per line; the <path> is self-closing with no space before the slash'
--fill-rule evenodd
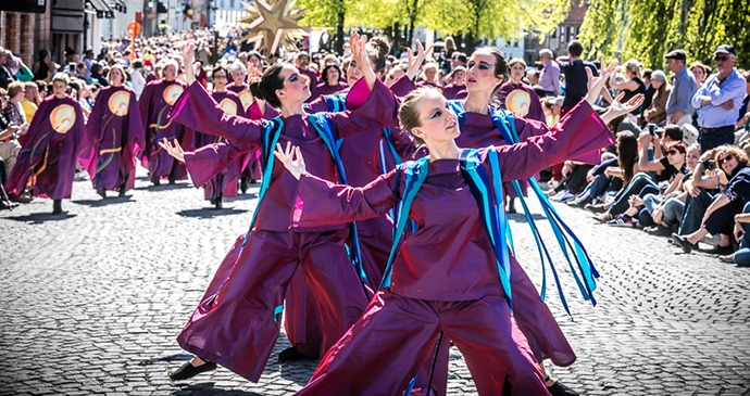
<path id="1" fill-rule="evenodd" d="M 78 156 L 91 148 L 80 105 L 65 94 L 68 82 L 62 73 L 52 78 L 54 94 L 39 104 L 28 131 L 18 139 L 21 151 L 5 182 L 9 193 L 21 196 L 32 178 L 34 195 L 53 200 L 53 215 L 62 214 L 62 200 L 71 197 Z"/>

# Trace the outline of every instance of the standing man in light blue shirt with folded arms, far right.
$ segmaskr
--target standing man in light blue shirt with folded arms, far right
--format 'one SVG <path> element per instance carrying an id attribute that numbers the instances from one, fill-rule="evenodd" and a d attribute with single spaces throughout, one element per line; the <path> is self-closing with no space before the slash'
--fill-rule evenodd
<path id="1" fill-rule="evenodd" d="M 745 77 L 735 68 L 735 48 L 721 44 L 713 52 L 716 72 L 705 79 L 692 97 L 698 108 L 698 142 L 705 152 L 735 142 L 735 124 L 747 91 Z"/>

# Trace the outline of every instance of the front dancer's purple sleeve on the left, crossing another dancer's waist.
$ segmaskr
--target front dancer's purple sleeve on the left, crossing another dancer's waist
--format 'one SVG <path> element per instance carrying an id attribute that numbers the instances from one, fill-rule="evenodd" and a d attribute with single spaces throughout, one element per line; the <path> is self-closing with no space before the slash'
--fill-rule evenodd
<path id="1" fill-rule="evenodd" d="M 365 187 L 335 184 L 310 174 L 297 183 L 291 227 L 322 227 L 383 216 L 393 207 L 393 169 Z"/>

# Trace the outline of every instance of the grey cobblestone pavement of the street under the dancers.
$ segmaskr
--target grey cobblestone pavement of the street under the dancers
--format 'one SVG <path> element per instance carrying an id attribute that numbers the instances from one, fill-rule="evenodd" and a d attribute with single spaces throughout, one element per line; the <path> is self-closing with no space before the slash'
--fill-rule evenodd
<path id="1" fill-rule="evenodd" d="M 125 199 L 102 201 L 78 181 L 74 199 L 63 202 L 65 216 L 47 215 L 52 203 L 41 199 L 0 214 L 0 395 L 300 388 L 316 362 L 276 363 L 289 345 L 284 334 L 258 384 L 222 368 L 185 383 L 167 378 L 189 358 L 175 337 L 246 231 L 257 193 L 255 187 L 211 210 L 201 191 L 184 181 L 149 187 L 139 169 L 137 189 Z M 554 375 L 587 395 L 750 395 L 750 270 L 682 254 L 638 230 L 595 225 L 579 209 L 559 210 L 602 278 L 591 307 L 563 272 L 575 321 L 548 284 L 548 304 L 578 356 L 568 368 L 551 368 Z M 528 227 L 512 221 L 512 228 L 522 265 L 540 284 Z M 453 349 L 449 394 L 475 393 Z"/>

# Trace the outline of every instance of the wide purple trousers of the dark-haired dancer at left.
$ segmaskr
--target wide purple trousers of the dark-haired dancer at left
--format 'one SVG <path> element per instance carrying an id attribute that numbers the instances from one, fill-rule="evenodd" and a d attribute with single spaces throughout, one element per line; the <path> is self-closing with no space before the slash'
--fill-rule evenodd
<path id="1" fill-rule="evenodd" d="M 323 355 L 367 304 L 347 256 L 347 230 L 252 231 L 241 252 L 236 244 L 225 258 L 177 337 L 179 345 L 257 382 L 278 336 L 287 286 L 301 267 L 317 312 Z M 237 259 L 229 265 L 232 256 Z"/>

